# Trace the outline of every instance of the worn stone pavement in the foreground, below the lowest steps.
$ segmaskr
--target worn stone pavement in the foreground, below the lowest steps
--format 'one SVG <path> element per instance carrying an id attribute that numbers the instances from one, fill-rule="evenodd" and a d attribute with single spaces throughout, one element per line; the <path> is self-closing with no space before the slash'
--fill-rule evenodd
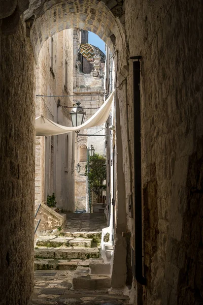
<path id="1" fill-rule="evenodd" d="M 38 270 L 28 305 L 128 305 L 121 290 L 73 290 L 74 270 Z"/>

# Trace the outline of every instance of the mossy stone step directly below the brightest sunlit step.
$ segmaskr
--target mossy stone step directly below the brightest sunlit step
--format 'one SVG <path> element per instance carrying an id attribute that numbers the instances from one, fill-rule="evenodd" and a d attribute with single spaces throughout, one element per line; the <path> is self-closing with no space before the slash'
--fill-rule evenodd
<path id="1" fill-rule="evenodd" d="M 35 258 L 47 259 L 89 259 L 89 258 L 99 258 L 100 248 L 35 248 Z"/>

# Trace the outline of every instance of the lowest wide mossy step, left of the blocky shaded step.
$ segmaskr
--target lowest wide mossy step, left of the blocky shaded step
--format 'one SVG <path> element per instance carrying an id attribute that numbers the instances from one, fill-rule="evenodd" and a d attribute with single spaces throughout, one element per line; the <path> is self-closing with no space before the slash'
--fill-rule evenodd
<path id="1" fill-rule="evenodd" d="M 36 259 L 35 270 L 74 270 L 77 266 L 88 267 L 89 260 L 73 259 Z"/>

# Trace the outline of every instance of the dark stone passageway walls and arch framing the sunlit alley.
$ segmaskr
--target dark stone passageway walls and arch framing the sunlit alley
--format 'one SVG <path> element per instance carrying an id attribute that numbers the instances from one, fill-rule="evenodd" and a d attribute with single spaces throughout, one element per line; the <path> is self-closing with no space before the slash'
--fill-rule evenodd
<path id="1" fill-rule="evenodd" d="M 46 38 L 62 31 L 66 25 L 72 26 L 65 25 L 67 19 L 60 15 L 63 14 L 62 3 L 30 2 L 26 23 L 23 16 L 19 21 L 19 16 L 28 8 L 27 1 L 7 1 L 0 10 L 0 217 L 1 245 L 4 245 L 1 250 L 1 304 L 4 305 L 26 304 L 33 285 L 33 64 Z M 132 302 L 137 298 L 140 304 L 201 303 L 202 2 L 65 3 L 64 12 L 70 14 L 73 25 L 81 27 L 79 16 L 84 14 L 87 19 L 81 19 L 83 28 L 98 34 L 118 54 L 116 172 L 119 184 L 116 193 L 121 201 L 122 215 L 116 219 L 115 242 L 124 251 L 115 257 L 117 264 L 121 257 L 123 261 L 125 249 L 134 248 L 135 241 L 131 197 L 128 196 L 133 191 L 130 183 L 136 136 L 133 130 L 133 123 L 136 123 L 133 120 L 133 65 L 129 56 L 142 56 L 141 79 L 137 86 L 141 95 L 140 192 L 143 193 L 144 211 L 141 269 L 147 283 L 140 286 L 139 278 L 133 279 Z M 72 12 L 67 10 L 69 5 Z M 95 11 L 91 13 L 90 9 Z M 103 14 L 103 18 L 94 20 L 93 12 L 98 18 Z M 56 22 L 59 15 L 63 20 L 61 24 Z M 57 28 L 58 25 L 61 28 Z M 11 32 L 13 35 L 7 36 Z M 36 46 L 34 52 L 33 46 Z M 137 137 L 139 143 L 140 134 Z M 125 274 L 126 266 L 115 272 Z"/>

